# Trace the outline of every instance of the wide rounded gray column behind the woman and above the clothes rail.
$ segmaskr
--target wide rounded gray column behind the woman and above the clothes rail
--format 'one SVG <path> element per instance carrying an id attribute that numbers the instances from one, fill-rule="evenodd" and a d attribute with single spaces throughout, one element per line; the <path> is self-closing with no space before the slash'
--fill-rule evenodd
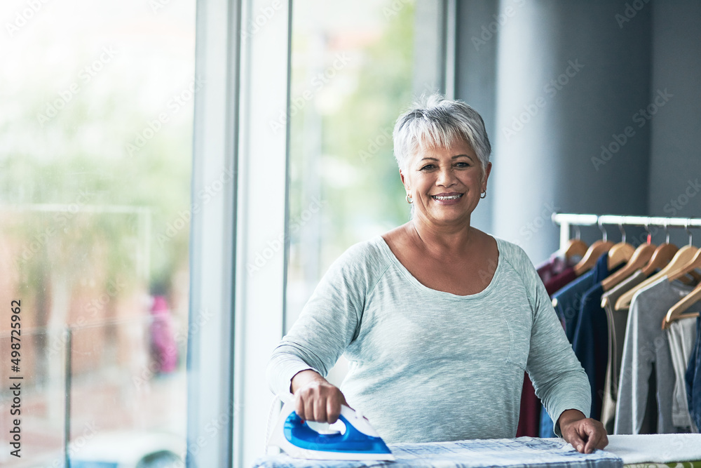
<path id="1" fill-rule="evenodd" d="M 500 4 L 493 234 L 534 262 L 557 249 L 553 210 L 646 214 L 650 126 L 634 114 L 649 99 L 651 14 L 643 8 L 620 27 L 620 8 Z"/>

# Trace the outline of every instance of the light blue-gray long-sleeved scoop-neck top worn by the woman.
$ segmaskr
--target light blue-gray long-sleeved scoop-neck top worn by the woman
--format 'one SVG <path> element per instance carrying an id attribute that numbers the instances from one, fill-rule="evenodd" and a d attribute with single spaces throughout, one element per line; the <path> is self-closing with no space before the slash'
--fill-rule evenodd
<path id="1" fill-rule="evenodd" d="M 289 392 L 301 370 L 326 376 L 344 354 L 341 392 L 388 443 L 515 437 L 524 370 L 554 421 L 588 417 L 589 381 L 543 282 L 496 242 L 489 286 L 466 296 L 423 286 L 381 236 L 352 246 L 273 352 L 271 390 Z"/>

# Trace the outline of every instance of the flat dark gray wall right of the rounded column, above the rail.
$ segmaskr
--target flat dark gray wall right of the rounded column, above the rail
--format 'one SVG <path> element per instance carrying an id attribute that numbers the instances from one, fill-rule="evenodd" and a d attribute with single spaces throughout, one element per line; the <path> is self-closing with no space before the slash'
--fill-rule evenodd
<path id="1" fill-rule="evenodd" d="M 701 3 L 665 0 L 653 8 L 653 79 L 648 112 L 652 144 L 651 215 L 701 216 Z M 666 93 L 665 93 L 666 90 Z M 666 94 L 666 102 L 661 98 Z M 660 105 L 660 106 L 658 106 Z M 701 234 L 693 231 L 698 245 Z M 672 241 L 688 241 L 683 229 Z"/>

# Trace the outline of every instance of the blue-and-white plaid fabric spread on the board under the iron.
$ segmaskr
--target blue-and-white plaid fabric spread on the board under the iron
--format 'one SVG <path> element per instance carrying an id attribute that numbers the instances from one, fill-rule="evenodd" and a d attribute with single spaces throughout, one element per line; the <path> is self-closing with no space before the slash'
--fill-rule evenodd
<path id="1" fill-rule="evenodd" d="M 286 454 L 261 457 L 260 468 L 350 467 L 529 467 L 529 468 L 622 468 L 623 460 L 602 450 L 585 455 L 562 439 L 477 439 L 435 443 L 388 444 L 394 462 L 302 460 Z"/>

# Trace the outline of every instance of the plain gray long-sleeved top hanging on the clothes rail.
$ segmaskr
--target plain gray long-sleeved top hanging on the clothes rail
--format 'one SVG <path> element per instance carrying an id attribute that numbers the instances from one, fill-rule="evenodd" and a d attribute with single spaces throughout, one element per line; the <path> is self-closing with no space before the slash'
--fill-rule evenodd
<path id="1" fill-rule="evenodd" d="M 677 281 L 670 283 L 665 276 L 633 296 L 625 330 L 614 434 L 643 434 L 647 430 L 644 420 L 651 409 L 657 412 L 653 432 L 679 432 L 672 421 L 674 368 L 667 334 L 662 330 L 662 318 L 690 290 L 692 288 Z M 699 307 L 697 304 L 689 312 Z M 656 395 L 648 388 L 653 370 Z"/>

